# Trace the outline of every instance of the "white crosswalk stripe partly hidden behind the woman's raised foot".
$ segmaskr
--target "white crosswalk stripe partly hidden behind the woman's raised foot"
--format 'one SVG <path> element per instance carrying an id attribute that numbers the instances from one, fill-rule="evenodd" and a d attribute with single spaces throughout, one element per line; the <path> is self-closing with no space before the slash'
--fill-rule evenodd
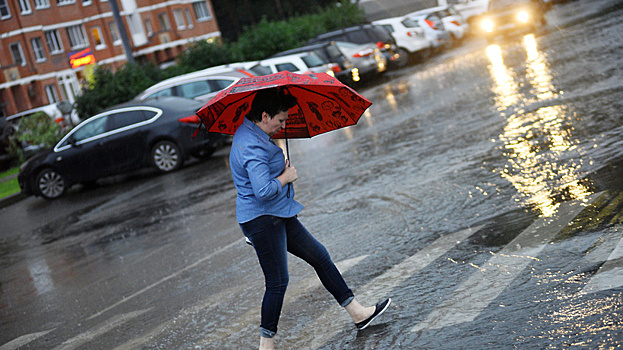
<path id="1" fill-rule="evenodd" d="M 375 277 L 366 285 L 358 288 L 362 292 L 356 293 L 355 297 L 358 301 L 376 302 L 389 296 L 394 288 L 430 265 L 457 244 L 478 232 L 482 227 L 483 226 L 468 228 L 438 238 L 415 255 L 408 257 L 380 276 Z M 342 311 L 340 308 L 331 308 L 325 311 L 321 316 L 316 317 L 314 322 L 307 325 L 303 330 L 297 332 L 296 338 L 310 339 L 311 344 L 306 344 L 305 348 L 317 349 L 325 344 L 328 339 L 335 337 L 344 327 L 354 327 L 354 325 L 351 324 L 352 320 L 348 317 L 346 312 Z M 322 336 L 317 334 L 318 329 L 323 329 Z"/>

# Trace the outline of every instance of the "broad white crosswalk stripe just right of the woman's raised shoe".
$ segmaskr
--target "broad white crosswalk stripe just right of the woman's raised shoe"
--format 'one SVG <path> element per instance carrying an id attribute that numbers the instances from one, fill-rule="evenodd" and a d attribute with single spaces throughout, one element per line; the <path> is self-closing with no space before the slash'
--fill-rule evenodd
<path id="1" fill-rule="evenodd" d="M 440 329 L 473 321 L 531 261 L 536 259 L 547 243 L 600 194 L 593 194 L 586 201 L 562 203 L 552 217 L 537 219 L 499 253 L 474 271 L 450 298 L 433 310 L 424 321 L 413 327 L 411 332 Z"/>

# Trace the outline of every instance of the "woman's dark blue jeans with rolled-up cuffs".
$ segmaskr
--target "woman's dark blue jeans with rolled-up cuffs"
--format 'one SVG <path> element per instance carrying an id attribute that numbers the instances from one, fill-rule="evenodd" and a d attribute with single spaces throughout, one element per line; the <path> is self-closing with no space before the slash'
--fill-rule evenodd
<path id="1" fill-rule="evenodd" d="M 341 306 L 346 306 L 353 300 L 353 292 L 331 261 L 327 249 L 296 217 L 265 215 L 240 224 L 240 227 L 253 243 L 266 281 L 260 327 L 263 337 L 272 338 L 277 333 L 277 323 L 289 281 L 287 252 L 310 264 L 324 287 Z"/>

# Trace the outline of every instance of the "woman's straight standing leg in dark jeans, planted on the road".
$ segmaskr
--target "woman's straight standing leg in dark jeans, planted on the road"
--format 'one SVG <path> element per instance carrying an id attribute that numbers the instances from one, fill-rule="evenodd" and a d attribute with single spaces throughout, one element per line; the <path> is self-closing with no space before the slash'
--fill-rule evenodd
<path id="1" fill-rule="evenodd" d="M 272 338 L 277 333 L 289 281 L 285 223 L 280 218 L 261 216 L 240 226 L 253 243 L 264 273 L 266 291 L 262 300 L 261 335 Z"/>

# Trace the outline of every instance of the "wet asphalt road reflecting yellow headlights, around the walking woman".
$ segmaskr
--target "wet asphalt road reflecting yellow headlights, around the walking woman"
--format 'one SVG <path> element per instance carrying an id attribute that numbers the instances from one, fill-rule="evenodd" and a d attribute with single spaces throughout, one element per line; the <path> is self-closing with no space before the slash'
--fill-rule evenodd
<path id="1" fill-rule="evenodd" d="M 623 346 L 622 7 L 468 40 L 362 87 L 357 126 L 290 141 L 301 221 L 358 299 L 394 303 L 357 332 L 292 259 L 278 348 Z M 0 349 L 254 348 L 227 154 L 0 210 Z"/>

